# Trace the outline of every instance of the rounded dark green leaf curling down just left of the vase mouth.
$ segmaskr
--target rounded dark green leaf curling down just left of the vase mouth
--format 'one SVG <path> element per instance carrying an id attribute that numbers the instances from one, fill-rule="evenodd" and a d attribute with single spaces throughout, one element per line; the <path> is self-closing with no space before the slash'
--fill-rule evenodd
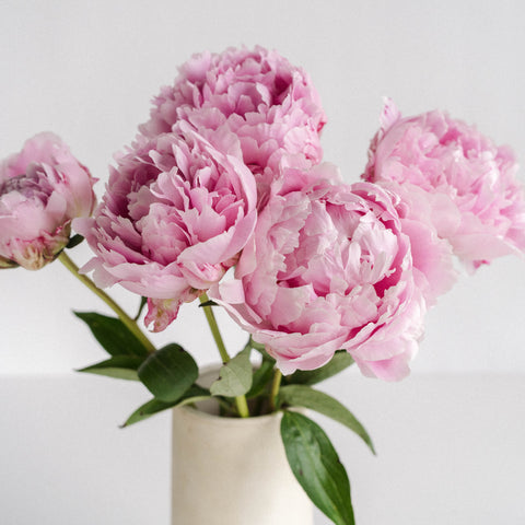
<path id="1" fill-rule="evenodd" d="M 195 383 L 199 369 L 194 358 L 179 345 L 167 345 L 154 353 L 139 368 L 139 378 L 160 400 L 178 400 Z"/>

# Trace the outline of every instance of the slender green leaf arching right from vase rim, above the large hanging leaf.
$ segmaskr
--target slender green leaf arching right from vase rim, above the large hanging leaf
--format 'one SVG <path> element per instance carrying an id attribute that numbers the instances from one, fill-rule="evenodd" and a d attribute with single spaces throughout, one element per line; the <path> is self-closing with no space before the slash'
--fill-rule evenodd
<path id="1" fill-rule="evenodd" d="M 341 405 L 328 394 L 314 390 L 314 388 L 306 385 L 287 385 L 281 387 L 279 395 L 281 402 L 291 407 L 310 408 L 345 424 L 355 432 L 366 443 L 372 453 L 375 454 L 374 445 L 364 427 L 345 405 Z"/>

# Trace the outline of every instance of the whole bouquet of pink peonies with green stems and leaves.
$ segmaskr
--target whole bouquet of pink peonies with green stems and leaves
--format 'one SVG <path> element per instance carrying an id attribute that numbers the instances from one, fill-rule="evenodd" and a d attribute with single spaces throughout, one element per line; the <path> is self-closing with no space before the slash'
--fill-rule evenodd
<path id="1" fill-rule="evenodd" d="M 352 363 L 384 381 L 407 376 L 425 312 L 456 281 L 457 261 L 472 272 L 525 252 L 525 197 L 512 151 L 441 112 L 401 117 L 387 100 L 353 184 L 323 162 L 325 124 L 308 75 L 276 51 L 194 56 L 154 97 L 98 205 L 95 179 L 51 133 L 0 164 L 0 268 L 58 259 L 114 311 L 77 315 L 108 353 L 82 371 L 152 394 L 125 425 L 206 398 L 224 417 L 284 411 L 299 482 L 334 523 L 351 524 L 337 453 L 290 409 L 342 422 L 374 452 L 353 415 L 313 385 Z M 67 252 L 83 238 L 93 257 L 79 269 Z M 136 315 L 103 290 L 117 283 L 139 298 Z M 191 302 L 223 363 L 209 388 L 191 353 L 155 348 L 140 326 L 164 330 Z M 235 354 L 217 307 L 247 332 Z M 298 456 L 317 458 L 312 476 Z"/>

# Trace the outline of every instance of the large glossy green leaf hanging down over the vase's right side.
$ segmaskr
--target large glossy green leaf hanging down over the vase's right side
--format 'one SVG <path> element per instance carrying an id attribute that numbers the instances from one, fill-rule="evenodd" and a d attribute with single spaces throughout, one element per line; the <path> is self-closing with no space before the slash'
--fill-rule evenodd
<path id="1" fill-rule="evenodd" d="M 312 502 L 336 525 L 354 525 L 350 482 L 323 429 L 301 413 L 285 411 L 281 438 L 292 472 Z"/>

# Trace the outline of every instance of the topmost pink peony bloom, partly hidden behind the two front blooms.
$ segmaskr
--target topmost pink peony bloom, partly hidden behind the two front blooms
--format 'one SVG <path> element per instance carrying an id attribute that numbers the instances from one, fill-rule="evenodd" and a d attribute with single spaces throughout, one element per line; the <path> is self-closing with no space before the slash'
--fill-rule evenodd
<path id="1" fill-rule="evenodd" d="M 150 120 L 140 127 L 145 137 L 170 132 L 178 120 L 199 131 L 236 133 L 244 162 L 257 177 L 259 200 L 290 156 L 310 164 L 322 160 L 326 117 L 319 96 L 306 72 L 277 51 L 255 47 L 195 55 L 153 103 Z"/>

